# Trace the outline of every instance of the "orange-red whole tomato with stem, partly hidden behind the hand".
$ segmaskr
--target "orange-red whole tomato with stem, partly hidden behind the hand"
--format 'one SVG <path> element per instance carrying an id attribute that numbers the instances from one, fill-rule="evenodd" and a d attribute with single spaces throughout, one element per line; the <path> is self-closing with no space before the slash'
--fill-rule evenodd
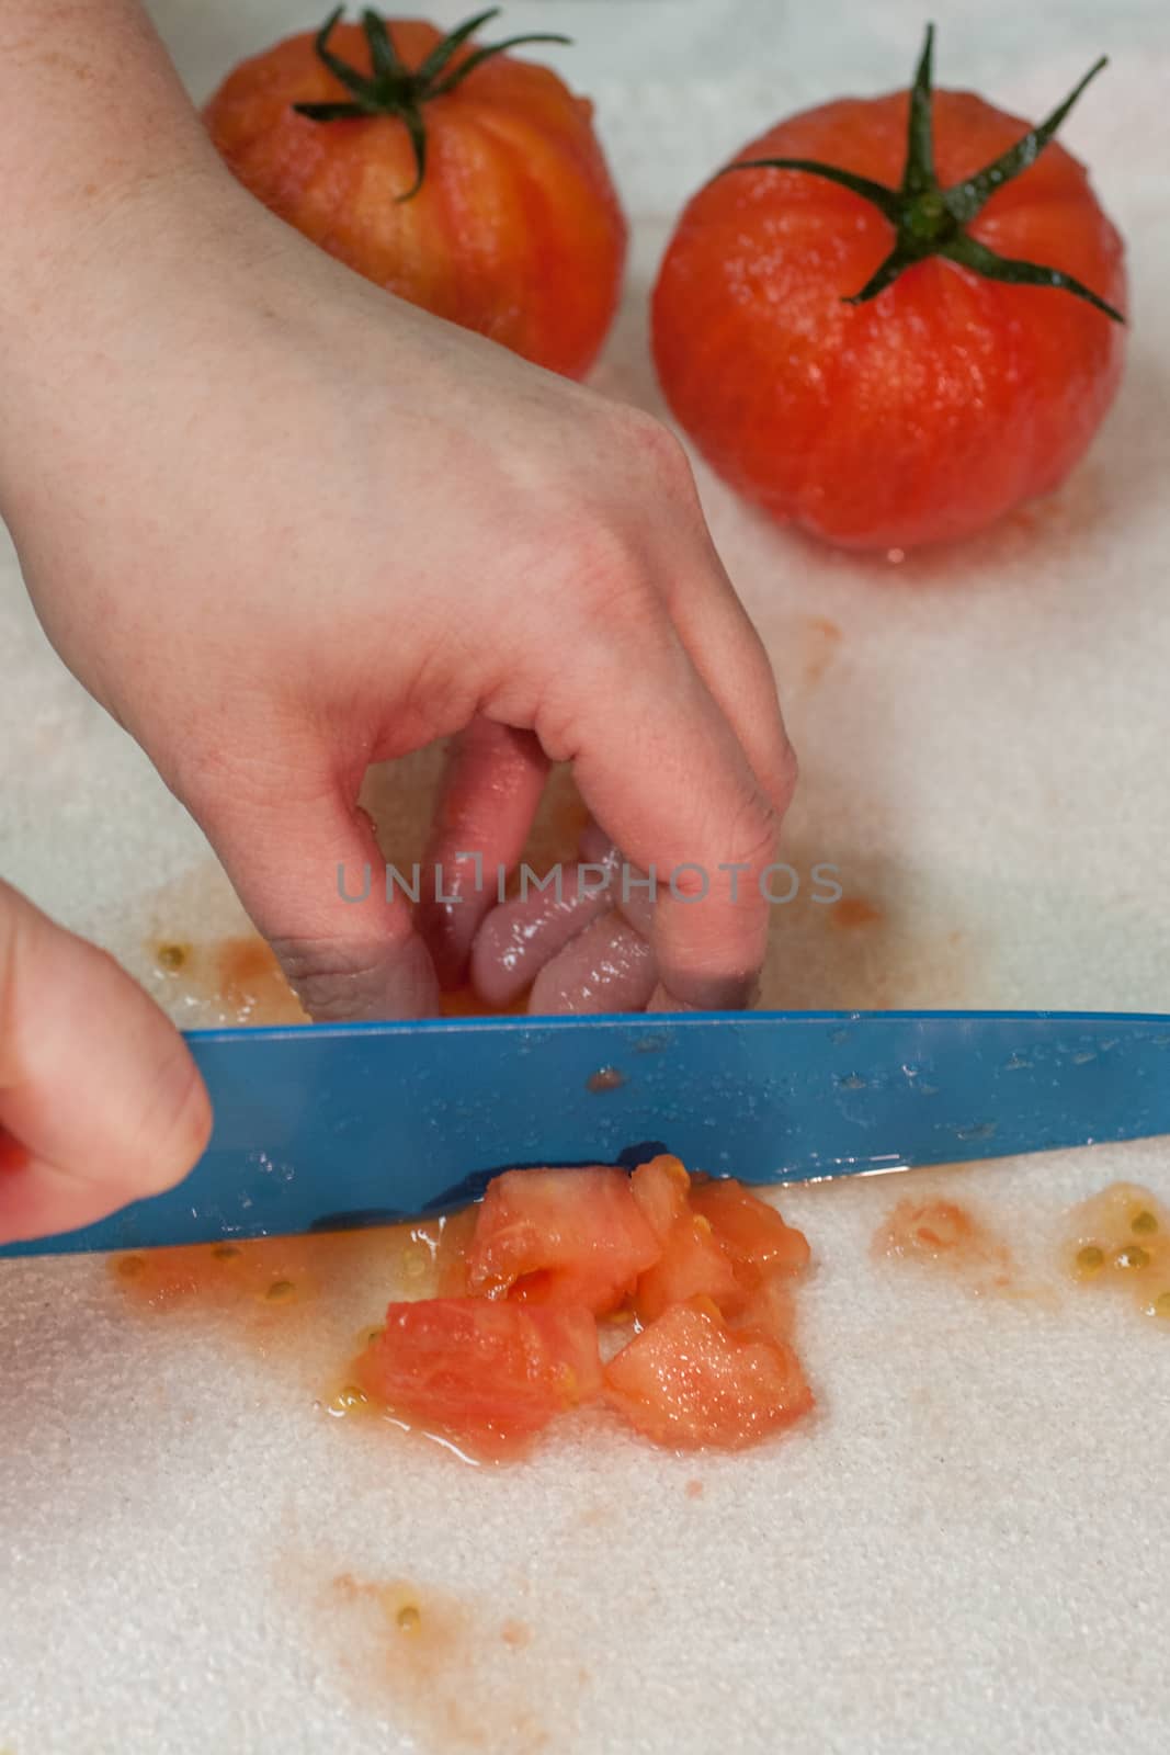
<path id="1" fill-rule="evenodd" d="M 617 305 L 626 225 L 593 105 L 474 47 L 493 12 L 340 25 L 244 61 L 203 112 L 240 183 L 358 274 L 581 377 Z"/>

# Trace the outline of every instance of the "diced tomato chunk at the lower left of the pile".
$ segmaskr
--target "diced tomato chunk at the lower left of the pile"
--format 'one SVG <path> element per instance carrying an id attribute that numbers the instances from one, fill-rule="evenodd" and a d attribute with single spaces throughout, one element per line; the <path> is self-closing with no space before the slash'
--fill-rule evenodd
<path id="1" fill-rule="evenodd" d="M 358 1379 L 407 1425 L 477 1457 L 516 1455 L 556 1415 L 600 1393 L 596 1323 L 582 1306 L 391 1304 Z"/>

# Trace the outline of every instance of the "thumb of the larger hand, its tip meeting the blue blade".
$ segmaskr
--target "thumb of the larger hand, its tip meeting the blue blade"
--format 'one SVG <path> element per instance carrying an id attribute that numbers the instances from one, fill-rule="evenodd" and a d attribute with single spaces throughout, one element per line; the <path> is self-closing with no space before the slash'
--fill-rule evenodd
<path id="1" fill-rule="evenodd" d="M 309 767 L 282 793 L 221 783 L 191 807 L 312 1018 L 428 1016 L 439 985 L 410 914 L 421 872 L 398 874 L 407 888 L 393 878 L 354 802 L 360 781 Z"/>

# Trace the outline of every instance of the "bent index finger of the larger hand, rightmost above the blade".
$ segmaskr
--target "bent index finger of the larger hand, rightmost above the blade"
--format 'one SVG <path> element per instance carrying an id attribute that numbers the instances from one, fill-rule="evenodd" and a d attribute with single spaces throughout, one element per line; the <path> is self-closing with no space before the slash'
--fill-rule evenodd
<path id="1" fill-rule="evenodd" d="M 777 811 L 674 632 L 640 644 L 635 670 L 621 637 L 582 644 L 542 742 L 554 758 L 567 746 L 586 804 L 656 881 L 663 985 L 691 1006 L 738 1006 L 767 946 Z"/>

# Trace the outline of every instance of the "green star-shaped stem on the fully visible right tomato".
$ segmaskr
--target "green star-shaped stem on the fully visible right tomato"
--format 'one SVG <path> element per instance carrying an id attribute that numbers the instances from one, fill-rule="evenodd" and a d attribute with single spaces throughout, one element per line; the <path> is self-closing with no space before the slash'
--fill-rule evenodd
<path id="1" fill-rule="evenodd" d="M 967 232 L 967 225 L 982 212 L 991 197 L 1005 188 L 1014 177 L 1035 165 L 1037 158 L 1056 135 L 1070 109 L 1109 65 L 1102 54 L 1088 70 L 1084 79 L 1074 86 L 1063 104 L 1052 111 L 1038 126 L 1030 128 L 1023 139 L 995 158 L 982 170 L 961 183 L 944 190 L 935 174 L 933 142 L 933 49 L 935 26 L 926 26 L 926 42 L 917 61 L 914 84 L 910 86 L 910 119 L 907 130 L 905 168 L 902 184 L 896 190 L 875 183 L 872 177 L 860 177 L 840 165 L 826 165 L 814 158 L 742 158 L 726 165 L 717 176 L 731 170 L 800 170 L 812 177 L 824 177 L 840 188 L 851 190 L 861 200 L 889 219 L 895 228 L 895 244 L 886 260 L 874 270 L 865 286 L 845 298 L 849 305 L 867 304 L 877 298 L 898 276 L 926 256 L 945 256 L 988 281 L 1007 281 L 1012 286 L 1049 286 L 1058 291 L 1074 293 L 1084 298 L 1096 311 L 1102 311 L 1114 323 L 1124 323 L 1121 311 L 1105 304 L 1091 288 L 1065 274 L 1061 269 L 1047 269 L 1038 261 L 1017 261 L 1012 256 L 998 256 L 993 249 Z"/>

